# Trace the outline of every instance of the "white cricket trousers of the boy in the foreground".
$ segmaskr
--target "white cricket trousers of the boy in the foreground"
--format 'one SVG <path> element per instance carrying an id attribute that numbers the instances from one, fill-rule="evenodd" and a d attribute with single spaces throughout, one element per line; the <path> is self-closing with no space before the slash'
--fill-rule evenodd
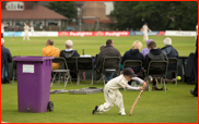
<path id="1" fill-rule="evenodd" d="M 119 109 L 119 113 L 125 112 L 122 95 L 119 90 L 112 90 L 112 89 L 105 87 L 104 88 L 104 98 L 105 98 L 106 102 L 98 107 L 99 113 L 110 110 L 114 107 L 114 104 L 116 104 L 117 108 Z"/>

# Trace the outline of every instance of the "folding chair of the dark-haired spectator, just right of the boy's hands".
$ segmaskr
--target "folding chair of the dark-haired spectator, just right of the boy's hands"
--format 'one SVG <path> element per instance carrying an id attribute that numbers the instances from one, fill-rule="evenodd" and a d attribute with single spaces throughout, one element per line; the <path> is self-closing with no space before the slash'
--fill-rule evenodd
<path id="1" fill-rule="evenodd" d="M 151 61 L 147 70 L 148 73 L 144 80 L 150 80 L 149 76 L 151 76 L 152 78 L 161 78 L 161 84 L 163 84 L 163 89 L 166 91 L 165 78 L 167 73 L 167 65 L 168 65 L 167 61 Z M 149 91 L 151 91 L 150 82 L 148 86 L 149 86 Z M 152 87 L 157 87 L 157 86 L 152 86 Z"/>

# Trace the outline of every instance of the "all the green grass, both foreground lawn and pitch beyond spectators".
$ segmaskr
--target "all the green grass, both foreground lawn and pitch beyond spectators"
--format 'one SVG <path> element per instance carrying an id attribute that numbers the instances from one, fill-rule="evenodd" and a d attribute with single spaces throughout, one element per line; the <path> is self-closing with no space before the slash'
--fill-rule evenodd
<path id="1" fill-rule="evenodd" d="M 163 36 L 150 36 L 157 42 L 157 48 L 162 48 Z M 188 57 L 196 50 L 195 37 L 171 37 L 173 46 L 178 50 L 179 57 Z M 77 49 L 82 54 L 95 55 L 99 52 L 99 46 L 105 45 L 107 39 L 113 39 L 115 47 L 121 55 L 131 48 L 134 40 L 140 40 L 145 48 L 145 42 L 141 36 L 130 37 L 31 37 L 31 40 L 23 41 L 22 37 L 5 37 L 5 47 L 10 49 L 12 55 L 40 55 L 47 39 L 54 39 L 55 47 L 65 49 L 65 41 L 71 39 Z M 79 89 L 90 87 L 90 80 L 79 86 L 73 82 L 66 89 Z M 94 87 L 104 87 L 103 84 L 94 84 Z M 194 85 L 178 82 L 178 85 L 166 84 L 167 91 L 145 90 L 140 98 L 134 112 L 129 116 L 132 103 L 139 91 L 124 91 L 124 103 L 126 116 L 118 113 L 117 107 L 114 107 L 106 113 L 92 114 L 95 106 L 105 102 L 104 94 L 92 95 L 70 95 L 54 94 L 50 95 L 50 101 L 54 102 L 54 111 L 45 113 L 21 113 L 17 112 L 17 84 L 1 84 L 1 122 L 10 123 L 198 123 L 198 98 L 190 95 Z M 51 87 L 51 89 L 63 89 L 63 83 Z"/>

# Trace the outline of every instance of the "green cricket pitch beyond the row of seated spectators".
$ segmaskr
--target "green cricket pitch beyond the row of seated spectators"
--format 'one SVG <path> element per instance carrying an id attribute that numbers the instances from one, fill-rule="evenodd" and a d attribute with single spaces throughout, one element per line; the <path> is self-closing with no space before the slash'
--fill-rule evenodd
<path id="1" fill-rule="evenodd" d="M 150 36 L 157 44 L 157 48 L 164 47 L 164 36 Z M 171 37 L 173 40 L 173 47 L 175 47 L 179 55 L 188 57 L 190 52 L 196 50 L 195 37 Z M 147 47 L 147 42 L 142 41 L 142 36 L 129 36 L 129 37 L 31 37 L 31 40 L 23 40 L 22 37 L 15 37 L 12 40 L 11 37 L 5 37 L 5 47 L 10 49 L 12 55 L 42 55 L 42 49 L 46 46 L 48 39 L 54 40 L 54 46 L 60 50 L 66 49 L 65 42 L 68 39 L 73 41 L 73 49 L 78 50 L 82 54 L 84 49 L 85 54 L 95 55 L 99 52 L 99 46 L 105 45 L 107 39 L 113 39 L 114 47 L 117 48 L 121 55 L 131 49 L 132 42 L 140 40 Z"/>

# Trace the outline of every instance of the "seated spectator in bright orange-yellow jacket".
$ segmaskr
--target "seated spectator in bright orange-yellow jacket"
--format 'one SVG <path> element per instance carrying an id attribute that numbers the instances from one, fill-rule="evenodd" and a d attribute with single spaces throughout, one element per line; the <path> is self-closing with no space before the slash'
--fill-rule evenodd
<path id="1" fill-rule="evenodd" d="M 46 42 L 46 47 L 43 48 L 43 57 L 59 57 L 60 50 L 54 47 L 54 40 L 48 39 Z M 58 70 L 60 67 L 59 63 L 52 63 L 51 69 Z"/>

